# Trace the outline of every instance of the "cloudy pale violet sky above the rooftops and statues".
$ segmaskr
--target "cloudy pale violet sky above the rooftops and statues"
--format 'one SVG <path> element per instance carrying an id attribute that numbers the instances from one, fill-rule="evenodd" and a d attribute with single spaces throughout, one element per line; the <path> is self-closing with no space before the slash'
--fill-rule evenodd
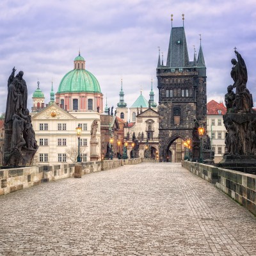
<path id="1" fill-rule="evenodd" d="M 7 80 L 15 67 L 24 71 L 28 108 L 40 81 L 49 102 L 51 85 L 74 67 L 80 50 L 86 70 L 99 81 L 104 105 L 116 107 L 121 79 L 127 107 L 142 94 L 149 99 L 151 79 L 158 103 L 156 67 L 158 47 L 164 65 L 173 27 L 184 28 L 189 60 L 200 34 L 207 67 L 207 102 L 224 102 L 234 47 L 248 70 L 247 87 L 256 108 L 255 0 L 1 0 L 0 111 L 5 112 Z M 17 74 L 17 73 L 16 73 Z M 224 102 L 225 103 L 225 102 Z"/>

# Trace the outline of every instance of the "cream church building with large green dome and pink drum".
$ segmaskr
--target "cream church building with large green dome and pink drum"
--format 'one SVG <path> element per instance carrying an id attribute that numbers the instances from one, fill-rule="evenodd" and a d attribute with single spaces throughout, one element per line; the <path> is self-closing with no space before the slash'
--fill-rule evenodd
<path id="1" fill-rule="evenodd" d="M 100 113 L 103 109 L 103 95 L 96 77 L 85 70 L 84 58 L 79 55 L 74 60 L 74 69 L 61 79 L 54 102 L 53 88 L 51 100 L 46 106 L 38 99 L 44 93 L 39 88 L 33 94 L 31 120 L 39 148 L 36 152 L 37 164 L 72 163 L 77 160 L 78 141 L 82 161 L 90 161 L 91 126 L 97 120 L 95 134 L 96 153 L 100 158 Z M 82 128 L 77 139 L 76 127 Z"/>

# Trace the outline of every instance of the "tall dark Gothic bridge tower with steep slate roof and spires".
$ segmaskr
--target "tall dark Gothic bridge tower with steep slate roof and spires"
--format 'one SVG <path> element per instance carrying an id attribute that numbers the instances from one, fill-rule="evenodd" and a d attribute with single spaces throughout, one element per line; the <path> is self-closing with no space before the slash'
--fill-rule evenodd
<path id="1" fill-rule="evenodd" d="M 160 161 L 168 161 L 175 140 L 192 137 L 195 119 L 199 124 L 206 123 L 206 67 L 201 38 L 195 58 L 189 61 L 183 17 L 183 26 L 171 29 L 166 65 L 160 62 L 159 51 L 156 68 Z"/>

